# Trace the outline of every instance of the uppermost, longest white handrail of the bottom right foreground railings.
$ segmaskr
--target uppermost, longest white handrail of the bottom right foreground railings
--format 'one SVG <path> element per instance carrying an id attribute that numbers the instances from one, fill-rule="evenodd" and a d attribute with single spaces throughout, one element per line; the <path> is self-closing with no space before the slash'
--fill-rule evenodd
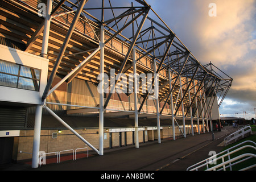
<path id="1" fill-rule="evenodd" d="M 208 164 L 212 163 L 212 159 L 214 159 L 214 161 L 217 160 L 217 159 L 215 159 L 215 158 L 216 158 L 217 156 L 221 155 L 221 154 L 224 154 L 225 152 L 227 152 L 227 154 L 226 154 L 225 156 L 228 155 L 228 158 L 230 159 L 230 154 L 232 154 L 232 153 L 238 151 L 238 149 L 241 150 L 242 148 L 238 148 L 237 150 L 234 150 L 234 151 L 232 151 L 232 152 L 230 152 L 230 150 L 232 150 L 233 148 L 236 148 L 236 147 L 238 147 L 238 146 L 241 146 L 241 145 L 244 144 L 244 143 L 252 143 L 252 144 L 254 144 L 254 146 L 256 146 L 256 143 L 255 143 L 255 142 L 250 141 L 250 140 L 246 140 L 245 142 L 238 143 L 236 146 L 230 147 L 230 148 L 228 148 L 228 149 L 226 149 L 226 150 L 224 150 L 224 151 L 222 151 L 222 152 L 220 152 L 220 153 L 218 153 L 218 154 L 216 154 L 216 155 L 210 156 L 209 158 L 204 159 L 204 160 L 202 160 L 202 161 L 199 162 L 199 163 L 193 164 L 192 166 L 190 166 L 190 167 L 187 168 L 187 171 L 188 171 L 188 170 L 190 170 L 190 171 L 196 170 L 196 171 L 197 171 L 199 168 L 204 167 L 204 166 L 207 166 L 207 168 L 208 168 Z M 221 157 L 220 157 L 220 158 L 221 158 Z M 232 166 L 232 164 L 231 164 L 231 162 L 230 162 L 230 166 L 229 166 L 229 167 L 230 167 L 230 170 L 232 170 L 231 166 Z M 193 168 L 193 167 L 194 167 L 194 168 Z"/>

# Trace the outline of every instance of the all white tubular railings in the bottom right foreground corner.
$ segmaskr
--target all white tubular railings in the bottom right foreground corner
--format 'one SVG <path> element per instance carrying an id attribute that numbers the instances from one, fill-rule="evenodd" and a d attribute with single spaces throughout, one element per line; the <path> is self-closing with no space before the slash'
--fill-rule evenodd
<path id="1" fill-rule="evenodd" d="M 225 171 L 226 168 L 229 167 L 230 171 L 232 171 L 232 166 L 234 166 L 235 164 L 238 164 L 238 163 L 241 163 L 241 162 L 243 162 L 243 161 L 245 161 L 245 160 L 248 160 L 248 159 L 250 159 L 250 158 L 256 157 L 255 154 L 248 154 L 248 155 L 246 155 L 246 156 L 249 156 L 248 158 L 239 160 L 239 161 L 236 162 L 236 163 L 232 163 L 232 162 L 234 162 L 234 161 L 236 161 L 236 160 L 238 160 L 238 159 L 241 159 L 241 158 L 243 158 L 243 157 L 245 157 L 245 156 L 241 155 L 239 158 L 236 157 L 236 158 L 230 159 L 230 154 L 233 154 L 233 153 L 235 153 L 235 152 L 237 152 L 237 151 L 240 151 L 240 150 L 242 150 L 243 148 L 247 148 L 247 147 L 253 148 L 253 149 L 256 151 L 256 147 L 251 146 L 251 145 L 246 145 L 246 146 L 242 146 L 242 147 L 240 147 L 240 148 L 237 148 L 237 147 L 239 147 L 239 146 L 241 146 L 242 144 L 245 144 L 245 143 L 252 143 L 254 146 L 256 146 L 256 143 L 253 142 L 253 141 L 250 141 L 250 140 L 247 140 L 247 141 L 245 141 L 245 142 L 241 142 L 241 143 L 237 144 L 236 146 L 230 147 L 230 148 L 228 148 L 228 149 L 226 149 L 226 150 L 224 150 L 224 151 L 222 151 L 222 152 L 220 152 L 220 153 L 218 153 L 218 154 L 216 154 L 216 155 L 210 156 L 209 158 L 204 159 L 204 160 L 202 160 L 201 162 L 196 163 L 196 164 L 194 164 L 194 165 L 188 167 L 188 168 L 187 168 L 187 171 L 198 171 L 198 169 L 204 168 L 204 167 L 206 167 L 207 170 L 210 170 L 210 169 L 211 169 L 211 170 L 214 170 L 214 169 L 217 169 L 217 168 L 219 168 L 219 167 L 221 167 L 221 166 L 222 166 L 222 168 L 221 168 L 221 169 L 218 169 L 218 170 L 222 170 L 222 169 L 223 169 L 223 170 Z M 236 150 L 233 150 L 234 148 L 237 148 L 237 149 L 236 149 Z M 233 151 L 230 151 L 230 150 L 233 150 Z M 226 154 L 225 154 L 225 152 L 226 152 Z M 226 156 L 228 156 L 228 160 L 225 162 L 225 157 L 226 157 Z M 209 164 L 214 164 L 214 163 L 217 162 L 217 160 L 220 160 L 220 159 L 222 160 L 222 163 L 221 163 L 221 164 L 218 164 L 218 165 L 217 165 L 218 167 L 215 167 L 215 166 L 214 166 L 214 167 L 212 167 L 212 168 L 209 168 Z M 226 166 L 226 164 L 229 164 L 229 165 Z M 249 167 L 255 167 L 255 166 L 249 166 Z M 245 168 L 244 168 L 244 169 L 245 169 Z M 247 167 L 247 169 L 249 169 L 249 168 Z"/>

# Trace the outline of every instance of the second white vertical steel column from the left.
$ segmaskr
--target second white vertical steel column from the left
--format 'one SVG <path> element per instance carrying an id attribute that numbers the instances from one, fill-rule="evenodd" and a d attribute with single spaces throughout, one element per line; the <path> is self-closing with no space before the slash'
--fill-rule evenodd
<path id="1" fill-rule="evenodd" d="M 99 112 L 99 155 L 103 155 L 104 149 L 104 25 L 101 25 L 101 35 L 100 35 L 100 112 Z"/>

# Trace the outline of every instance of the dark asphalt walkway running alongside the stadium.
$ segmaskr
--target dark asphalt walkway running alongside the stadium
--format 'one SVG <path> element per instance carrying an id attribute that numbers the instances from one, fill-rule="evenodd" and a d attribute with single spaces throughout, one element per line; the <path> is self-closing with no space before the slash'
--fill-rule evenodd
<path id="1" fill-rule="evenodd" d="M 221 131 L 187 135 L 176 140 L 164 139 L 134 146 L 105 150 L 104 155 L 92 155 L 89 158 L 46 164 L 32 169 L 28 164 L 16 164 L 2 170 L 33 171 L 185 171 L 189 166 L 209 157 L 209 151 L 220 152 L 225 136 L 235 131 L 225 126 Z"/>

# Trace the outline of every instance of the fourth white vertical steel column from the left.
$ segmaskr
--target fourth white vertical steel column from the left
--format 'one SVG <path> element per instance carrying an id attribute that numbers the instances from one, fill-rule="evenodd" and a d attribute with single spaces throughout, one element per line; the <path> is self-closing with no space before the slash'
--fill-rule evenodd
<path id="1" fill-rule="evenodd" d="M 158 143 L 161 143 L 161 133 L 160 133 L 160 113 L 159 113 L 159 99 L 158 99 L 158 74 L 156 74 L 156 60 L 154 59 L 154 71 L 155 71 L 155 76 L 154 76 L 154 86 L 155 86 L 155 102 L 156 102 L 156 124 L 158 126 Z M 156 77 L 156 78 L 155 78 Z"/>

